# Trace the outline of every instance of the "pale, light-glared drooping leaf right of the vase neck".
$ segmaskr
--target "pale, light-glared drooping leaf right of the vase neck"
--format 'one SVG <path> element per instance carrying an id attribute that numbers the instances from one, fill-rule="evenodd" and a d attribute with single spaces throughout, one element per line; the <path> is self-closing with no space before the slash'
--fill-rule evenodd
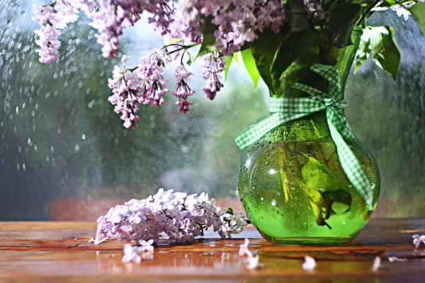
<path id="1" fill-rule="evenodd" d="M 370 52 L 372 52 L 372 59 L 378 67 L 387 71 L 392 76 L 392 79 L 395 80 L 401 55 L 395 42 L 394 29 L 385 26 L 363 29 L 363 35 L 361 35 L 361 41 L 356 52 L 356 70 L 354 74 L 368 59 Z"/>

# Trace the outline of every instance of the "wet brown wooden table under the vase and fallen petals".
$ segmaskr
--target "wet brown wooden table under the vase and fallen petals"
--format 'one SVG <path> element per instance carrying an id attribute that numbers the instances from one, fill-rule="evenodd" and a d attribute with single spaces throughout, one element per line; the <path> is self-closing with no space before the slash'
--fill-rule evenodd
<path id="1" fill-rule="evenodd" d="M 215 234 L 191 245 L 156 246 L 153 260 L 123 263 L 123 243 L 88 243 L 94 222 L 0 222 L 0 282 L 425 282 L 425 219 L 373 219 L 351 243 L 277 246 L 248 227 L 233 239 Z M 263 269 L 246 270 L 239 258 L 243 238 L 258 251 Z M 317 261 L 302 270 L 305 255 Z M 378 272 L 370 268 L 380 256 Z M 388 257 L 407 258 L 389 262 Z"/>

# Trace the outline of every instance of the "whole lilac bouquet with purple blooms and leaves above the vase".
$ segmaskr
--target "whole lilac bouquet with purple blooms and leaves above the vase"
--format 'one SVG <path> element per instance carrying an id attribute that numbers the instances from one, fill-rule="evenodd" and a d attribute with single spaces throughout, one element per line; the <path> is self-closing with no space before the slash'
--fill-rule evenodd
<path id="1" fill-rule="evenodd" d="M 390 27 L 370 27 L 367 19 L 375 11 L 388 8 L 399 16 L 411 13 L 424 29 L 425 4 L 417 0 L 55 0 L 35 6 L 34 20 L 40 24 L 35 30 L 40 46 L 40 62 L 52 64 L 57 60 L 61 35 L 67 23 L 77 21 L 79 11 L 91 18 L 104 57 L 120 54 L 120 35 L 125 26 L 134 25 L 142 13 L 149 13 L 149 23 L 164 36 L 166 45 L 140 59 L 136 67 L 128 68 L 123 56 L 123 67 L 115 67 L 109 87 L 113 95 L 109 101 L 120 113 L 124 126 L 135 128 L 140 105 L 160 106 L 169 89 L 164 68 L 175 63 L 176 97 L 179 112 L 188 112 L 195 91 L 188 86 L 193 75 L 188 67 L 195 60 L 202 66 L 200 76 L 205 79 L 203 92 L 213 100 L 223 86 L 230 62 L 240 52 L 246 69 L 256 85 L 259 77 L 271 93 L 282 96 L 285 91 L 302 81 L 308 69 L 317 62 L 315 47 L 326 45 L 355 48 L 356 67 L 373 52 L 377 64 L 397 76 L 399 52 Z M 379 29 L 380 28 L 380 29 Z M 354 37 L 354 38 L 353 38 Z M 318 40 L 319 39 L 319 40 Z M 320 44 L 319 44 L 320 41 Z M 275 68 L 274 61 L 288 54 L 288 45 L 300 47 L 302 52 L 290 57 L 285 67 Z M 390 46 L 391 48 L 386 48 Z M 198 47 L 197 54 L 191 49 Z M 348 56 L 348 55 L 347 55 Z M 351 66 L 351 64 L 350 64 Z"/>

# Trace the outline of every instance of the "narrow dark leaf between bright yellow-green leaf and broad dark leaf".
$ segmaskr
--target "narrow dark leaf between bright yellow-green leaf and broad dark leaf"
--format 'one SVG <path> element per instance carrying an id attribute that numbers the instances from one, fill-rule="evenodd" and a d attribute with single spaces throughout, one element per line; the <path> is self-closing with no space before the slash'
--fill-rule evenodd
<path id="1" fill-rule="evenodd" d="M 280 33 L 273 33 L 273 31 L 265 29 L 259 37 L 251 43 L 252 57 L 255 59 L 256 67 L 261 75 L 261 78 L 266 83 L 268 89 L 273 93 L 273 83 L 271 79 L 271 64 L 276 57 L 281 43 L 283 42 L 283 35 Z"/>

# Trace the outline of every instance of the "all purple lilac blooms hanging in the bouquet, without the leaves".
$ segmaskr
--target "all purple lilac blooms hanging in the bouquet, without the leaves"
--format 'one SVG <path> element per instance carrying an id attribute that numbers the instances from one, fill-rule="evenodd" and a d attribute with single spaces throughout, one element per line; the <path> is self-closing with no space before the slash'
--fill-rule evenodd
<path id="1" fill-rule="evenodd" d="M 125 24 L 134 25 L 143 12 L 150 14 L 149 23 L 169 38 L 170 42 L 161 50 L 141 59 L 132 69 L 115 67 L 109 87 L 113 96 L 109 101 L 115 105 L 115 112 L 121 114 L 124 126 L 135 128 L 140 119 L 137 116 L 140 104 L 162 105 L 166 89 L 164 67 L 171 61 L 188 53 L 188 48 L 199 45 L 203 40 L 201 30 L 205 25 L 215 25 L 217 52 L 205 54 L 201 64 L 202 77 L 207 81 L 203 92 L 213 100 L 223 87 L 221 83 L 225 71 L 225 57 L 240 50 L 245 42 L 256 39 L 256 31 L 271 28 L 278 33 L 285 20 L 283 4 L 280 0 L 57 0 L 41 7 L 34 7 L 34 21 L 41 25 L 35 32 L 40 45 L 40 62 L 52 64 L 57 59 L 61 34 L 59 29 L 76 21 L 79 10 L 91 18 L 91 26 L 98 30 L 96 35 L 104 57 L 119 54 L 120 35 Z M 207 20 L 208 18 L 208 20 Z M 180 41 L 175 41 L 179 39 Z M 172 54 L 172 55 L 171 55 Z M 183 64 L 175 71 L 176 96 L 179 112 L 186 113 L 193 102 L 189 96 L 193 91 L 188 86 L 192 75 Z"/>

